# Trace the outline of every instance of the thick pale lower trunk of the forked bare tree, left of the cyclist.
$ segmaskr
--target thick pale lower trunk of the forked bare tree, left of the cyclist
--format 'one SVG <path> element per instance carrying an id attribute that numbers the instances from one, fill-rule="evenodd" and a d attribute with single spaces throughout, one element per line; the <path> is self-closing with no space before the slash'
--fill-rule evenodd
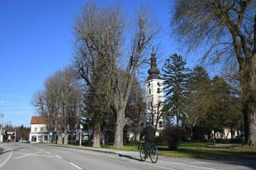
<path id="1" fill-rule="evenodd" d="M 115 141 L 114 141 L 114 149 L 121 149 L 124 144 L 124 127 L 126 125 L 126 114 L 125 114 L 125 106 L 116 112 L 116 132 L 115 132 Z"/>

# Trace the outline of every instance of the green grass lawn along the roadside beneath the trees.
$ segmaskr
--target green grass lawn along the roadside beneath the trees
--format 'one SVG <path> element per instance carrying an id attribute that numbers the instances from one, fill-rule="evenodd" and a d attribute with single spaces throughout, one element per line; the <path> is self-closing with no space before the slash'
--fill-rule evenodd
<path id="1" fill-rule="evenodd" d="M 239 144 L 229 148 L 206 147 L 211 143 L 181 143 L 177 151 L 169 151 L 167 146 L 158 146 L 159 155 L 183 158 L 254 158 L 256 147 Z M 212 145 L 212 144 L 211 144 Z M 102 148 L 113 149 L 111 145 Z M 138 151 L 138 146 L 124 146 L 122 150 Z"/>

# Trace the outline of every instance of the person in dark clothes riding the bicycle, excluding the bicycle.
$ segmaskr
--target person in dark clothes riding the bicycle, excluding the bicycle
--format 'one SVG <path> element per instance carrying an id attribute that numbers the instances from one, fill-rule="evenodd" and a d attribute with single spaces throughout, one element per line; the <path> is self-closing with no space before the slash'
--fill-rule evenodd
<path id="1" fill-rule="evenodd" d="M 145 158 L 148 158 L 148 150 L 150 149 L 150 146 L 154 143 L 155 139 L 155 129 L 152 125 L 150 125 L 149 122 L 146 123 L 144 129 L 140 134 L 140 139 L 142 139 L 143 137 L 145 137 Z"/>

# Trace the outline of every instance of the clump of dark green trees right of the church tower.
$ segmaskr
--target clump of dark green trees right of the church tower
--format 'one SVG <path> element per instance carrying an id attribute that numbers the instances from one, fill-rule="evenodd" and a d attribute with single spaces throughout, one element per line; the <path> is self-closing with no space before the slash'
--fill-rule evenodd
<path id="1" fill-rule="evenodd" d="M 224 135 L 228 129 L 233 140 L 235 131 L 243 132 L 239 93 L 224 78 L 210 78 L 198 65 L 186 68 L 186 60 L 178 54 L 170 55 L 162 70 L 164 116 L 181 126 L 187 138 L 216 139 L 216 133 Z"/>

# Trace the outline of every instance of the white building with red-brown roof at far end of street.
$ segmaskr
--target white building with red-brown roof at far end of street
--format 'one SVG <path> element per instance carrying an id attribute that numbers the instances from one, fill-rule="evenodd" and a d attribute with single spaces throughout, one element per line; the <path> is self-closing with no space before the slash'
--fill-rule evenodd
<path id="1" fill-rule="evenodd" d="M 47 143 L 48 130 L 46 125 L 46 118 L 44 116 L 32 116 L 31 118 L 31 143 Z"/>

